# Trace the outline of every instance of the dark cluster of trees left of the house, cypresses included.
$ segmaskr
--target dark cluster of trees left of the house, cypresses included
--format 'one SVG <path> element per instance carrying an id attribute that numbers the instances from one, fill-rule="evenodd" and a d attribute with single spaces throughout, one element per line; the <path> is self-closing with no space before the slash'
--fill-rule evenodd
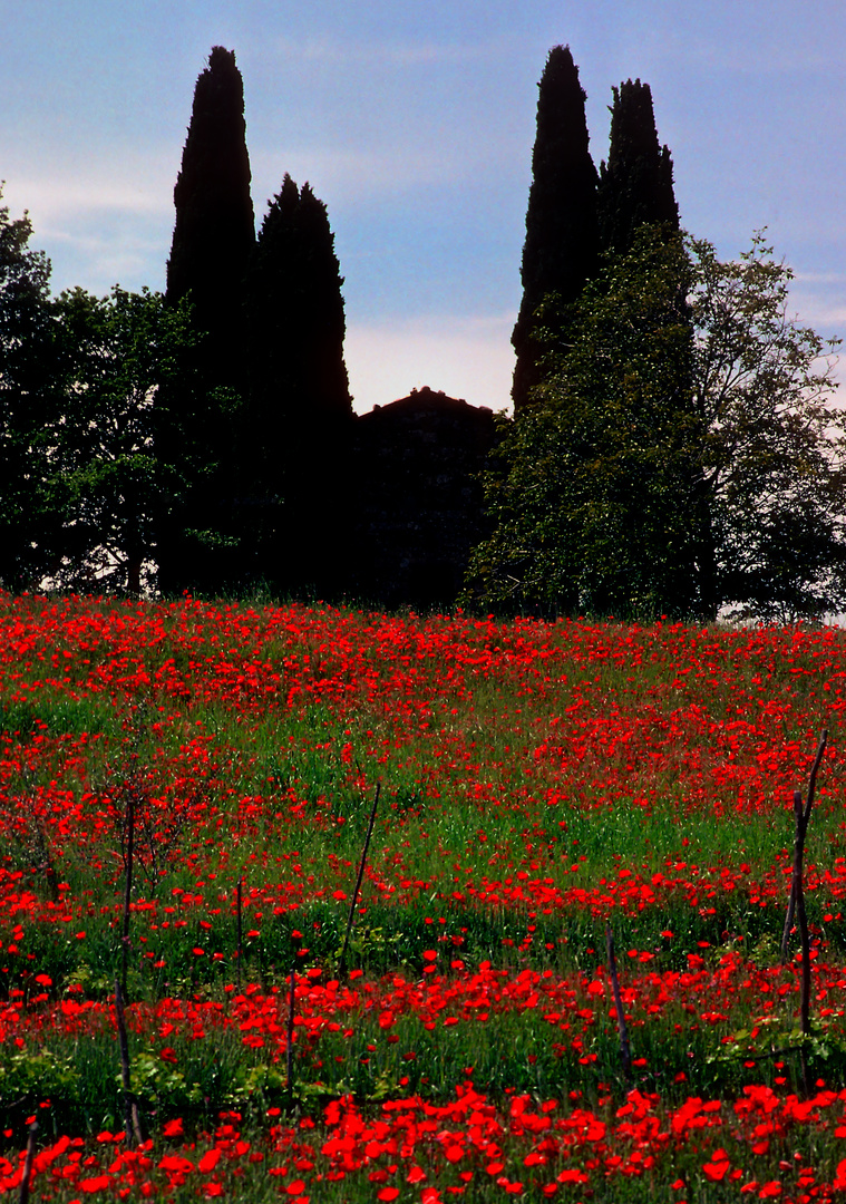
<path id="1" fill-rule="evenodd" d="M 5 588 L 343 586 L 343 279 L 308 184 L 285 176 L 256 237 L 245 135 L 241 72 L 214 47 L 164 296 L 51 297 L 28 217 L 0 208 Z"/>

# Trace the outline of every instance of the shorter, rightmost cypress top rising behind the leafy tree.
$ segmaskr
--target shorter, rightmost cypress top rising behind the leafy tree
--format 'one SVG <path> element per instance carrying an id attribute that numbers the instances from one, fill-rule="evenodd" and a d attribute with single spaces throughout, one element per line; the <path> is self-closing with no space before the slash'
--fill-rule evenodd
<path id="1" fill-rule="evenodd" d="M 658 144 L 652 93 L 627 79 L 614 88 L 608 163 L 599 169 L 599 240 L 603 250 L 627 254 L 645 223 L 679 229 L 673 160 Z"/>

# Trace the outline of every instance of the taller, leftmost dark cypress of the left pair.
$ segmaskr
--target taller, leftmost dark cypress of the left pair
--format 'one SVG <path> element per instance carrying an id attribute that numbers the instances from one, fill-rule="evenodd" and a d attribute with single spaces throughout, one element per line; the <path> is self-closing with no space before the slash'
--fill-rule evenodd
<path id="1" fill-rule="evenodd" d="M 255 246 L 245 134 L 235 54 L 215 46 L 196 82 L 173 189 L 166 297 L 190 300 L 199 338 L 182 384 L 158 397 L 156 447 L 174 482 L 159 524 L 166 591 L 237 584 L 233 448 L 245 393 L 243 283 Z"/>

